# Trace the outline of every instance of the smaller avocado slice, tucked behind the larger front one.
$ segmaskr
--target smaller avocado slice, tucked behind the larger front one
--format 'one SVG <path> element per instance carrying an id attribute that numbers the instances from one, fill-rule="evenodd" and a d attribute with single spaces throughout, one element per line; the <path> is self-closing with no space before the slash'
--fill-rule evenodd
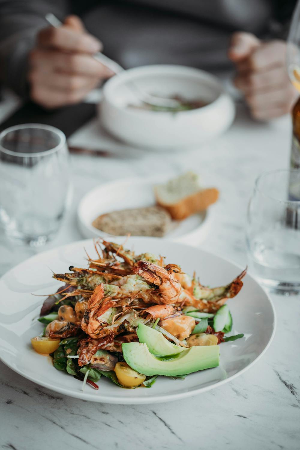
<path id="1" fill-rule="evenodd" d="M 184 350 L 184 347 L 172 344 L 163 334 L 147 325 L 139 324 L 136 330 L 139 342 L 147 344 L 148 349 L 156 356 L 176 355 Z"/>

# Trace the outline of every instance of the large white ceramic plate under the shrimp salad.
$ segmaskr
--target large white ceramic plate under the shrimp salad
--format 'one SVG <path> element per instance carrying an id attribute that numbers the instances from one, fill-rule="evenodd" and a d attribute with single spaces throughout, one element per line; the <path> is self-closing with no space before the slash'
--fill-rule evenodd
<path id="1" fill-rule="evenodd" d="M 119 238 L 118 242 L 122 242 Z M 197 271 L 201 282 L 210 286 L 227 284 L 241 268 L 222 258 L 180 243 L 157 238 L 130 238 L 128 247 L 136 252 L 150 251 L 166 256 L 167 262 L 180 264 L 184 271 Z M 233 334 L 245 337 L 221 344 L 219 367 L 188 375 L 183 380 L 160 377 L 152 388 L 121 389 L 104 377 L 99 391 L 90 386 L 81 391 L 81 383 L 71 375 L 54 369 L 50 357 L 38 355 L 30 345 L 30 338 L 41 333 L 36 321 L 43 297 L 31 293 L 53 293 L 59 287 L 51 278 L 51 271 L 68 271 L 70 265 L 85 266 L 84 248 L 94 254 L 92 240 L 79 241 L 40 253 L 0 279 L 0 358 L 25 378 L 60 392 L 84 400 L 103 403 L 141 404 L 171 401 L 208 391 L 242 374 L 264 354 L 273 338 L 275 312 L 271 301 L 257 282 L 246 275 L 244 286 L 228 305 L 233 315 Z"/>

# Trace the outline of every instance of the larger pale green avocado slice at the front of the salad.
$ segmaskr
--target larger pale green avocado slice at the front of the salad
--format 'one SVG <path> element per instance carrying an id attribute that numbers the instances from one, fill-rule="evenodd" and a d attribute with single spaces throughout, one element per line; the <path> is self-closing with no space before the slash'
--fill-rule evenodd
<path id="1" fill-rule="evenodd" d="M 122 344 L 122 351 L 126 363 L 148 377 L 152 375 L 176 377 L 219 365 L 218 345 L 191 347 L 168 360 L 161 360 L 152 355 L 147 345 L 140 342 L 125 342 Z"/>

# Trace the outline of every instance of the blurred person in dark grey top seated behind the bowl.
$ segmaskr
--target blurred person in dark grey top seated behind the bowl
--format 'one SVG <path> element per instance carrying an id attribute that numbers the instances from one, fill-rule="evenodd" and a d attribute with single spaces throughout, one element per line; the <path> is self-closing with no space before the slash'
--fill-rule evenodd
<path id="1" fill-rule="evenodd" d="M 103 50 L 125 68 L 181 64 L 234 84 L 251 114 L 290 111 L 287 30 L 295 0 L 1 0 L 0 81 L 45 108 L 78 103 L 113 72 L 92 58 Z M 49 27 L 48 13 L 63 26 Z"/>

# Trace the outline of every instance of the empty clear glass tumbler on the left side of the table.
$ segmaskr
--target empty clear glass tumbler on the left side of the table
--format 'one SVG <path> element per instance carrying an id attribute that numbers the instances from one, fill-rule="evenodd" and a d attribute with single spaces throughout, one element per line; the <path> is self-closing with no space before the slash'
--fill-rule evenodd
<path id="1" fill-rule="evenodd" d="M 25 124 L 0 133 L 0 225 L 10 238 L 45 244 L 58 231 L 69 190 L 66 137 Z"/>

